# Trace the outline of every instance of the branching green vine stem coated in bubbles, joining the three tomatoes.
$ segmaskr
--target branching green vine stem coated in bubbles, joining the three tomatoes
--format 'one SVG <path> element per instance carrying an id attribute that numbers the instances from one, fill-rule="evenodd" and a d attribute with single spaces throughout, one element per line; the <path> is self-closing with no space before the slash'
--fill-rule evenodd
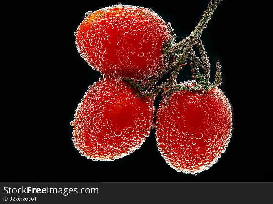
<path id="1" fill-rule="evenodd" d="M 159 73 L 155 74 L 149 81 L 144 82 L 143 84 L 136 84 L 134 81 L 126 79 L 126 81 L 130 82 L 137 90 L 139 90 L 140 94 L 142 96 L 155 96 L 158 94 L 160 91 L 163 89 L 169 89 L 170 87 L 173 88 L 185 88 L 187 90 L 189 87 L 184 87 L 183 85 L 179 85 L 178 87 L 175 86 L 177 85 L 176 82 L 176 77 L 181 69 L 182 64 L 185 62 L 186 59 L 190 59 L 193 64 L 193 71 L 195 76 L 197 77 L 197 82 L 199 82 L 199 88 L 202 86 L 203 89 L 208 90 L 210 88 L 210 83 L 209 83 L 209 69 L 210 69 L 210 62 L 209 58 L 205 52 L 204 45 L 200 39 L 201 34 L 203 30 L 207 27 L 207 23 L 209 19 L 211 18 L 214 10 L 217 8 L 217 5 L 221 2 L 221 0 L 211 0 L 210 3 L 208 4 L 208 7 L 206 11 L 204 11 L 204 14 L 195 27 L 195 29 L 191 32 L 191 34 L 185 38 L 182 39 L 181 42 L 175 43 L 172 45 L 172 40 L 174 38 L 170 39 L 169 44 L 167 47 L 164 49 L 164 52 L 166 55 L 169 57 L 170 55 L 178 54 L 178 58 L 170 63 L 168 66 L 166 66 L 163 70 L 159 71 Z M 170 29 L 171 26 L 168 24 Z M 172 30 L 173 31 L 173 30 Z M 171 33 L 172 36 L 175 36 L 174 32 Z M 201 60 L 195 56 L 192 47 L 197 44 L 200 55 L 201 55 Z M 166 62 L 167 63 L 167 62 Z M 199 73 L 198 65 L 204 68 L 204 76 Z M 217 61 L 217 73 L 216 73 L 216 80 L 213 83 L 214 86 L 217 86 L 221 83 L 221 72 L 219 63 Z M 156 86 L 156 88 L 151 88 L 153 87 L 157 82 L 158 79 L 162 78 L 162 76 L 166 73 L 168 73 L 170 70 L 174 70 L 171 73 L 171 76 L 169 79 L 166 80 L 165 83 L 161 84 L 160 86 Z M 150 91 L 148 91 L 150 89 Z"/>

